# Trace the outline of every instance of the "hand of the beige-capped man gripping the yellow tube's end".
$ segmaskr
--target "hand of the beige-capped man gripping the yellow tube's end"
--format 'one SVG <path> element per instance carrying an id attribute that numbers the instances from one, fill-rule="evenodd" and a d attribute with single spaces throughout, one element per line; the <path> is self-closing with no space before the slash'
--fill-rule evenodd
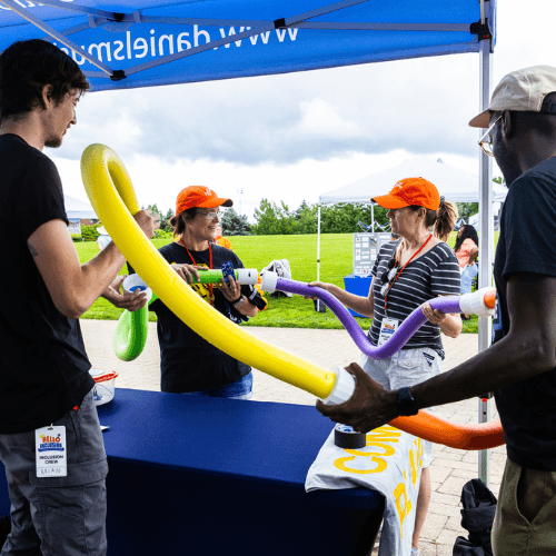
<path id="1" fill-rule="evenodd" d="M 358 433 L 368 433 L 395 419 L 397 390 L 385 390 L 356 363 L 346 367 L 356 380 L 354 395 L 344 404 L 327 406 L 317 401 L 317 409 L 336 423 L 350 425 Z"/>

